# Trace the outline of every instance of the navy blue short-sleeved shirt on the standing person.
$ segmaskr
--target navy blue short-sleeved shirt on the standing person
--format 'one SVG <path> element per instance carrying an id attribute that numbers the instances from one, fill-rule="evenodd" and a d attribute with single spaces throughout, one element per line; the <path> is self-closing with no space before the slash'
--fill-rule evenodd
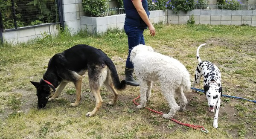
<path id="1" fill-rule="evenodd" d="M 142 0 L 141 2 L 147 15 L 149 16 L 150 13 L 148 12 L 148 1 Z M 125 8 L 125 24 L 147 29 L 148 27 L 147 24 L 140 17 L 140 14 L 137 12 L 136 8 L 132 3 L 132 0 L 124 0 L 124 8 Z"/>

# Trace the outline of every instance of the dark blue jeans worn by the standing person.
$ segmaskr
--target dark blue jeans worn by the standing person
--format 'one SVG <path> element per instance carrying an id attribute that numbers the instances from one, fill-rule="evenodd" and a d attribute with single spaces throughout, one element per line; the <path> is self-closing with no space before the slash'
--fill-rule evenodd
<path id="1" fill-rule="evenodd" d="M 137 46 L 139 44 L 145 45 L 145 41 L 143 37 L 144 29 L 130 26 L 127 24 L 124 25 L 124 29 L 125 29 L 126 35 L 128 36 L 128 47 L 129 47 L 125 68 L 134 69 L 134 65 L 130 61 L 130 53 L 134 46 Z"/>

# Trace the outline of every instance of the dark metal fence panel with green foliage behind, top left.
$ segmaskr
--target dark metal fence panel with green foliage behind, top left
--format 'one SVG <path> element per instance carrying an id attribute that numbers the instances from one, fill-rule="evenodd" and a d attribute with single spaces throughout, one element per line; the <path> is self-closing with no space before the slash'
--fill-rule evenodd
<path id="1" fill-rule="evenodd" d="M 59 23 L 59 0 L 0 0 L 3 29 Z"/>

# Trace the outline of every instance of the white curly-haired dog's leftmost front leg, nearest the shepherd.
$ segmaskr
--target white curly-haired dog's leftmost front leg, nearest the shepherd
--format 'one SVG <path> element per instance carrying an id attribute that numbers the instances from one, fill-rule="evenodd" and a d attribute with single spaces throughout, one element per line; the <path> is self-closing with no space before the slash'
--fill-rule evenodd
<path id="1" fill-rule="evenodd" d="M 148 89 L 148 85 L 146 81 L 140 81 L 140 105 L 137 106 L 138 109 L 145 107 L 147 99 L 146 99 L 146 91 Z"/>

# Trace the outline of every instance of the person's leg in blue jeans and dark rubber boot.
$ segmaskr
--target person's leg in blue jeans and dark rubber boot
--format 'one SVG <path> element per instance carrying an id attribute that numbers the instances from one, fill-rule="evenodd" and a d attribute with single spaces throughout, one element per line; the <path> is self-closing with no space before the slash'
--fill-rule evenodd
<path id="1" fill-rule="evenodd" d="M 125 33 L 128 36 L 128 57 L 125 64 L 125 81 L 126 84 L 132 86 L 139 86 L 140 84 L 133 78 L 134 66 L 130 61 L 130 53 L 134 46 L 141 44 L 143 38 L 144 29 L 140 29 L 134 26 L 124 25 Z M 145 43 L 145 42 L 144 42 Z"/>

